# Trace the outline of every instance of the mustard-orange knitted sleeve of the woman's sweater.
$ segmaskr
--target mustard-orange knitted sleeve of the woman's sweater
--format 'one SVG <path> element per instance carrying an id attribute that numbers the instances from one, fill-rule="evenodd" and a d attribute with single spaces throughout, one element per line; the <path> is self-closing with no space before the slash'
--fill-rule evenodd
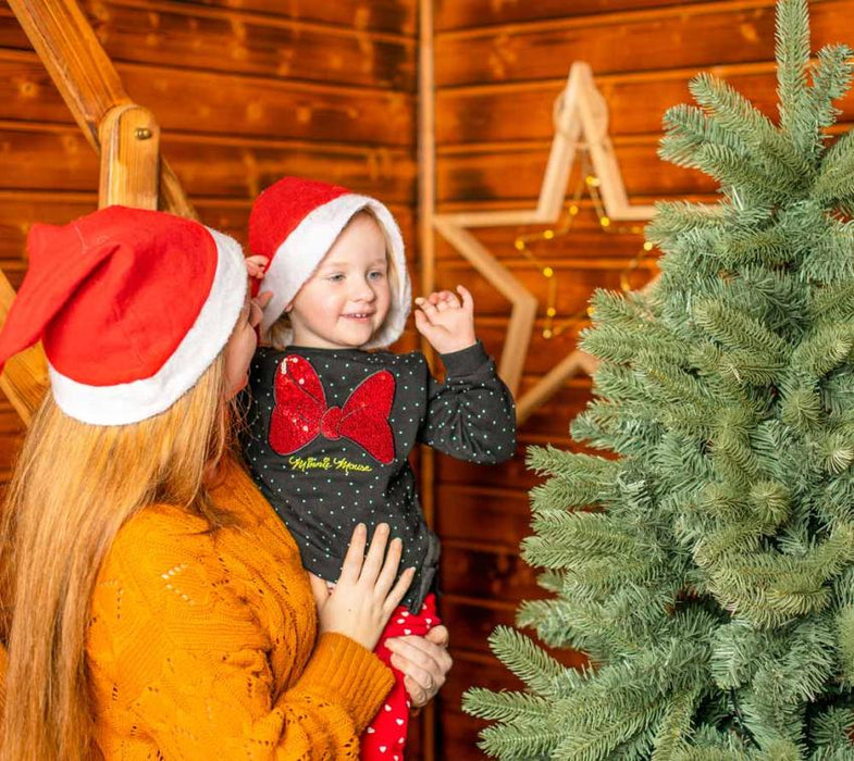
<path id="1" fill-rule="evenodd" d="M 146 736 L 169 759 L 358 759 L 391 672 L 337 634 L 296 663 L 298 627 L 287 615 L 262 625 L 247 604 L 252 585 L 218 572 L 226 560 L 210 534 L 114 544 L 87 641 L 99 724 L 113 737 Z M 279 648 L 290 662 L 277 670 L 292 677 L 281 690 L 272 636 L 294 640 Z"/>

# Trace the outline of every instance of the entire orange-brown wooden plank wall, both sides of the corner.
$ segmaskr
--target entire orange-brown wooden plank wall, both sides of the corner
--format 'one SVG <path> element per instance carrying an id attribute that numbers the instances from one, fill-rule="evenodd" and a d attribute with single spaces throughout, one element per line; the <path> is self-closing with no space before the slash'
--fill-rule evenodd
<path id="1" fill-rule="evenodd" d="M 714 191 L 660 164 L 664 110 L 711 68 L 773 114 L 772 0 L 434 0 L 438 211 L 533 205 L 552 138 L 552 105 L 574 60 L 586 60 L 610 109 L 610 132 L 636 202 Z M 251 198 L 285 173 L 349 184 L 385 199 L 413 250 L 416 0 L 83 0 L 131 96 L 153 110 L 163 150 L 203 220 L 245 239 Z M 814 42 L 854 43 L 854 0 L 812 0 Z M 843 122 L 854 99 L 843 103 Z M 37 220 L 61 223 L 96 205 L 98 166 L 9 8 L 0 3 L 0 266 L 20 283 Z M 571 184 L 574 182 L 571 180 Z M 558 317 L 583 311 L 596 286 L 617 288 L 638 235 L 605 235 L 589 203 L 571 236 L 535 252 L 560 278 Z M 545 298 L 513 248 L 518 230 L 480 237 Z M 474 292 L 479 333 L 498 354 L 507 303 L 446 244 L 437 278 Z M 416 261 L 412 264 L 417 264 Z M 633 284 L 651 275 L 635 272 Z M 535 335 L 524 385 L 574 346 Z M 541 323 L 542 326 L 542 323 Z M 413 345 L 411 334 L 405 341 Z M 528 533 L 531 444 L 570 446 L 569 421 L 589 398 L 579 378 L 521 431 L 498 467 L 440 458 L 443 615 L 456 668 L 440 704 L 437 758 L 479 758 L 481 726 L 459 710 L 472 685 L 513 687 L 486 637 L 518 600 L 540 595 L 518 557 Z M 0 404 L 0 482 L 20 426 Z M 577 657 L 562 656 L 568 662 Z M 414 754 L 418 757 L 418 753 Z"/>

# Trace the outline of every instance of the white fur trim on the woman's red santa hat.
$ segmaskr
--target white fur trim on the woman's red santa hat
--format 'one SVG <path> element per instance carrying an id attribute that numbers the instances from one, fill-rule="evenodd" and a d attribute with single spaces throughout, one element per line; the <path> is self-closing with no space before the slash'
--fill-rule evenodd
<path id="1" fill-rule="evenodd" d="M 208 232 L 216 244 L 216 272 L 196 322 L 172 357 L 151 377 L 115 386 L 77 383 L 48 364 L 53 398 L 65 414 L 92 425 L 138 423 L 172 407 L 216 359 L 246 299 L 246 264 L 236 240 Z"/>

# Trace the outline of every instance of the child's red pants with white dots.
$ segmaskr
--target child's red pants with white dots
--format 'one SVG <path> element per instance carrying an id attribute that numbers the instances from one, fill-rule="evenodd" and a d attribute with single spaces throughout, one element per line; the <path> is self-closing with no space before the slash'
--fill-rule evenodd
<path id="1" fill-rule="evenodd" d="M 362 761 L 404 761 L 409 729 L 409 696 L 404 687 L 403 673 L 391 663 L 392 651 L 385 647 L 385 641 L 407 634 L 424 636 L 441 623 L 436 615 L 436 596 L 433 594 L 426 596 L 420 613 L 410 613 L 406 608 L 398 607 L 392 614 L 374 652 L 394 672 L 395 686 L 361 736 L 359 756 Z"/>

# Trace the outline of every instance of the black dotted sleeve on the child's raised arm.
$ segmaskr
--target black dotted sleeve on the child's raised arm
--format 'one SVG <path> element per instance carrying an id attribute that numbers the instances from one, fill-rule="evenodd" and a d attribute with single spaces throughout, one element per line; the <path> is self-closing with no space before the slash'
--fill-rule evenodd
<path id="1" fill-rule="evenodd" d="M 445 383 L 429 378 L 419 440 L 458 460 L 498 463 L 516 450 L 516 406 L 483 345 L 440 354 Z"/>

